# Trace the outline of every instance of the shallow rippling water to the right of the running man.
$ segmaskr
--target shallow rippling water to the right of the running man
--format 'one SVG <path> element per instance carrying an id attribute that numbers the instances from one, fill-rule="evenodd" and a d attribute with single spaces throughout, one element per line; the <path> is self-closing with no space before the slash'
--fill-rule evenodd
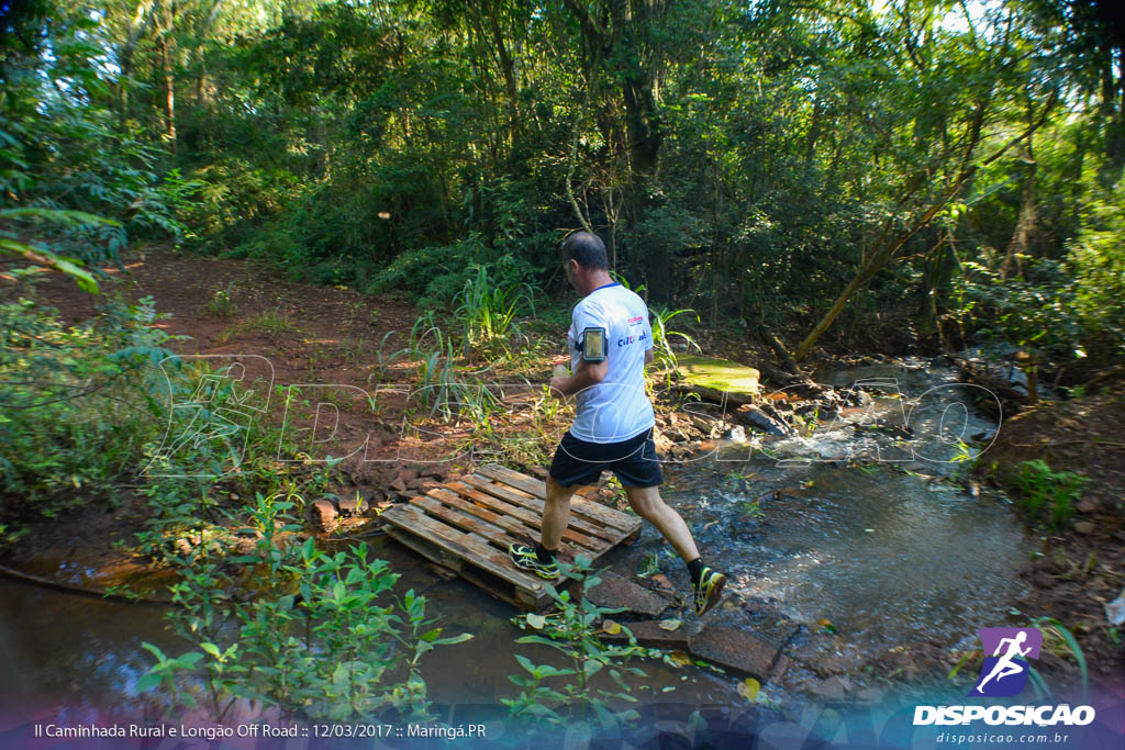
<path id="1" fill-rule="evenodd" d="M 872 399 L 794 436 L 665 466 L 664 496 L 709 564 L 729 572 L 728 591 L 750 608 L 828 620 L 868 648 L 954 642 L 1001 623 L 1032 542 L 1004 504 L 953 481 L 968 467 L 957 459 L 997 430 L 976 414 L 979 390 L 920 361 L 819 374 Z M 644 572 L 654 555 L 675 568 L 646 530 L 623 563 Z"/>

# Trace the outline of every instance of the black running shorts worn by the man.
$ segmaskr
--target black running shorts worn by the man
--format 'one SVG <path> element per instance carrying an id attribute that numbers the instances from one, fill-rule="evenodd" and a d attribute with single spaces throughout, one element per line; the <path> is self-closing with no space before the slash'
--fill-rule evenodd
<path id="1" fill-rule="evenodd" d="M 605 470 L 616 475 L 624 487 L 663 484 L 652 428 L 620 443 L 587 443 L 567 431 L 555 450 L 550 476 L 562 487 L 586 486 L 596 485 Z"/>

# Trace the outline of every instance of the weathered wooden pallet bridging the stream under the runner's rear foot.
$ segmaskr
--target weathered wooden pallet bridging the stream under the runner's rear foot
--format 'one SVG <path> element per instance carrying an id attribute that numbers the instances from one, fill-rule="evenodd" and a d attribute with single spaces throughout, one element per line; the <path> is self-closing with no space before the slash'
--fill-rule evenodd
<path id="1" fill-rule="evenodd" d="M 550 595 L 539 577 L 512 563 L 507 546 L 539 542 L 546 495 L 542 480 L 489 464 L 392 506 L 379 517 L 387 533 L 412 550 L 505 602 L 538 611 L 549 604 Z M 621 541 L 636 537 L 640 526 L 637 516 L 579 493 L 570 500 L 559 558 L 570 562 L 583 554 L 596 562 Z"/>

